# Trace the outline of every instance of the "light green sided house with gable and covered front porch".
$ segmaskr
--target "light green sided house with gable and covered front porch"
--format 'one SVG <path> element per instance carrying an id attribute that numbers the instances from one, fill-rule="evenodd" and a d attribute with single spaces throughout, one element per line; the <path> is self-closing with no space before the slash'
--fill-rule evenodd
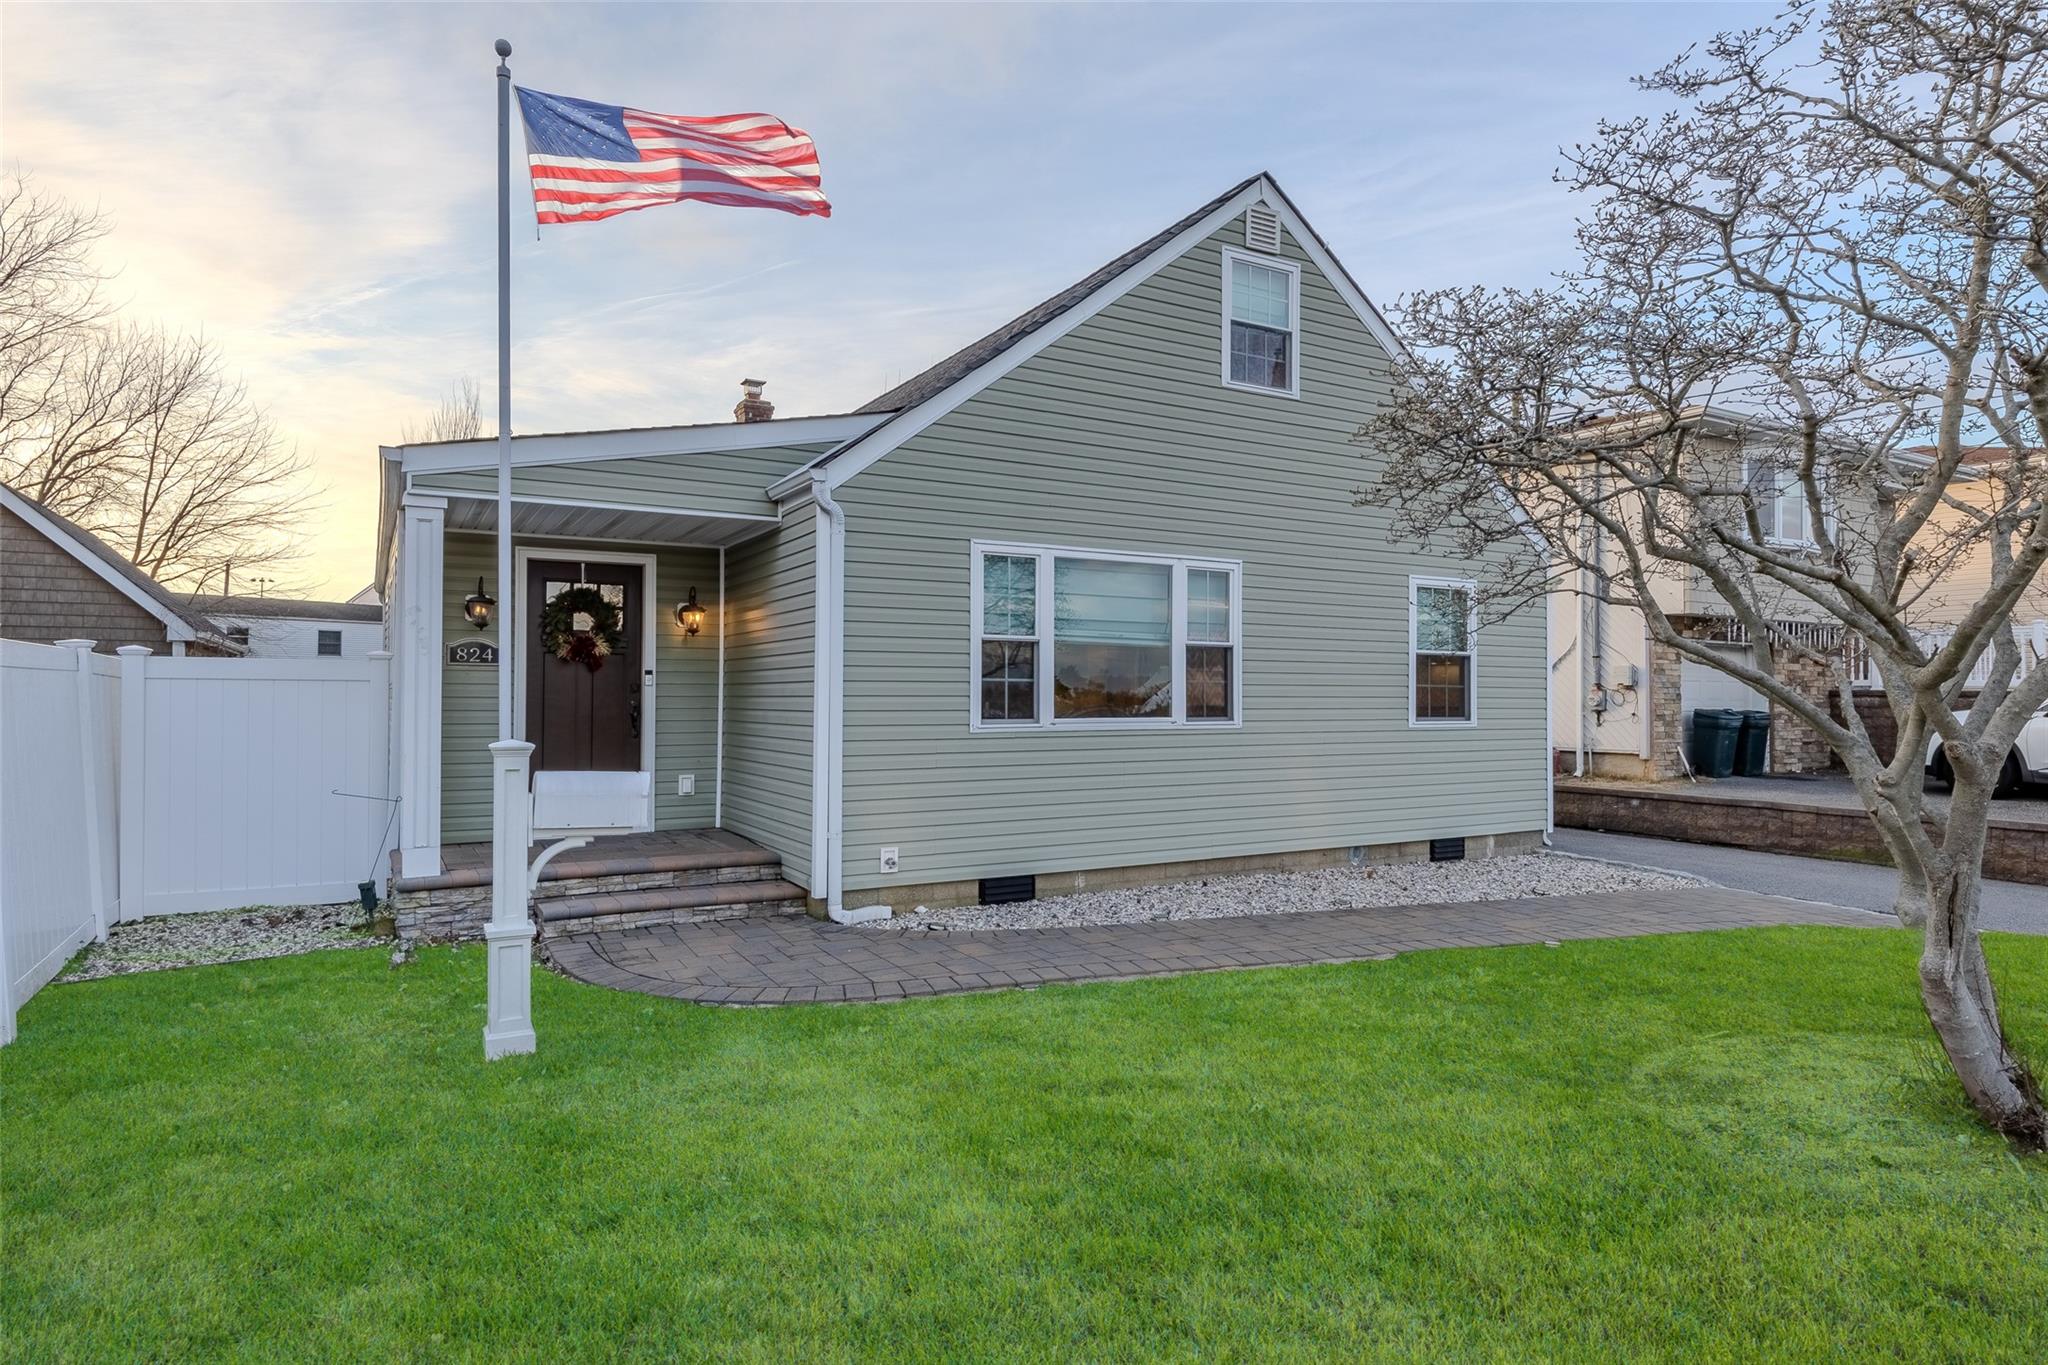
<path id="1" fill-rule="evenodd" d="M 512 583 L 494 442 L 385 448 L 401 907 L 485 915 L 506 628 L 651 776 L 543 927 L 1534 847 L 1544 612 L 1352 505 L 1393 346 L 1257 176 L 860 411 L 514 438 Z"/>

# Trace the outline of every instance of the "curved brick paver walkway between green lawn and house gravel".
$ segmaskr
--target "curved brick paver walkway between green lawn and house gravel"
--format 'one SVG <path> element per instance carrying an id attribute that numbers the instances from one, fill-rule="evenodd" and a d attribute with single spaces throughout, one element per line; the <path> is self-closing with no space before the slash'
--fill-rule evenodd
<path id="1" fill-rule="evenodd" d="M 1868 911 L 1702 886 L 975 933 L 858 929 L 780 915 L 561 937 L 549 941 L 547 954 L 569 976 L 598 986 L 705 1005 L 797 1005 L 1358 962 L 1419 948 L 1892 923 Z"/>

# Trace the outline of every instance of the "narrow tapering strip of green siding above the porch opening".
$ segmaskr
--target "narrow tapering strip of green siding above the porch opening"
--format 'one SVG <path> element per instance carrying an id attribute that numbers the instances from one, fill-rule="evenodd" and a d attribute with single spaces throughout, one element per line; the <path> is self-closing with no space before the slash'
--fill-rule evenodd
<path id="1" fill-rule="evenodd" d="M 768 446 L 705 454 L 645 454 L 629 460 L 524 465 L 512 471 L 512 495 L 676 508 L 717 516 L 774 516 L 774 503 L 762 489 L 823 450 L 829 446 Z M 498 471 L 422 473 L 414 475 L 412 487 L 496 493 Z"/>

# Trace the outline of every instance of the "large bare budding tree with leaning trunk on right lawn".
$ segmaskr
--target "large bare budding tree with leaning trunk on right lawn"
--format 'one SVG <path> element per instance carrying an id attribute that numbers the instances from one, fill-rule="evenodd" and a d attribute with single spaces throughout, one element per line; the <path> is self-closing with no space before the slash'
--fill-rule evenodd
<path id="1" fill-rule="evenodd" d="M 2048 667 L 2017 679 L 2011 628 L 2048 563 L 2044 6 L 1796 4 L 1640 86 L 1673 111 L 1567 153 L 1563 178 L 1593 199 L 1575 274 L 1405 301 L 1417 358 L 1360 430 L 1389 458 L 1362 497 L 1405 534 L 1489 553 L 1495 610 L 1595 575 L 1657 643 L 1819 733 L 1898 866 L 1921 999 L 1964 1093 L 2044 1148 L 1978 939 L 1993 788 L 2048 702 Z M 1741 458 L 1706 438 L 1708 403 L 1743 413 Z M 1985 444 L 2011 454 L 1966 503 Z M 1798 534 L 1778 522 L 1788 499 Z M 1958 512 L 1942 534 L 1937 510 Z M 1972 551 L 1989 589 L 1952 632 L 1917 630 L 1927 579 Z M 1688 639 L 1673 583 L 1710 585 L 1753 663 Z M 1884 681 L 1890 761 L 1853 706 L 1827 702 L 1829 686 L 1849 696 L 1855 655 Z M 1933 737 L 1954 767 L 1946 817 L 1923 808 Z"/>

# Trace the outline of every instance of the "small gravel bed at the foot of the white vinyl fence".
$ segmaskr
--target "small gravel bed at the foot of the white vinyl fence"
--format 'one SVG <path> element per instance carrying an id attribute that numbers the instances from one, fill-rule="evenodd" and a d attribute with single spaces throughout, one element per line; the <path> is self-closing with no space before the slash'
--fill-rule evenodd
<path id="1" fill-rule="evenodd" d="M 289 958 L 322 948 L 389 948 L 362 919 L 362 907 L 260 905 L 209 915 L 158 915 L 113 925 L 104 943 L 92 943 L 57 980 L 96 980 L 174 966 Z"/>

